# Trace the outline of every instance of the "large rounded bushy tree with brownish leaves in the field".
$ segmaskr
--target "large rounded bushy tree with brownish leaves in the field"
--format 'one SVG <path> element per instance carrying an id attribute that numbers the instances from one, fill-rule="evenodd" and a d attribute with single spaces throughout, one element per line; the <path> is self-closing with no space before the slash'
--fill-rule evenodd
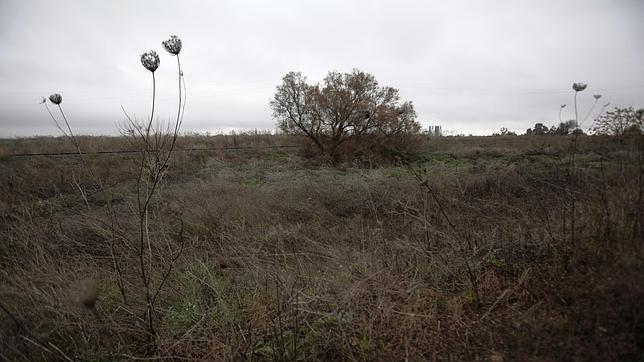
<path id="1" fill-rule="evenodd" d="M 379 86 L 372 74 L 357 69 L 329 72 L 317 84 L 290 72 L 270 106 L 284 132 L 306 136 L 333 161 L 349 140 L 386 145 L 420 131 L 413 104 L 402 102 L 398 89 Z"/>

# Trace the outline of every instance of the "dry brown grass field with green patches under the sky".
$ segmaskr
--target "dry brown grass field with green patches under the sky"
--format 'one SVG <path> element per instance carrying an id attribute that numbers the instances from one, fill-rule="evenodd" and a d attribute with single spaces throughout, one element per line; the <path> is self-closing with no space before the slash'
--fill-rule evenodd
<path id="1" fill-rule="evenodd" d="M 331 167 L 267 147 L 285 136 L 186 136 L 247 148 L 175 153 L 148 260 L 137 158 L 80 140 L 85 162 L 0 141 L 2 359 L 644 358 L 639 139 L 582 136 L 571 162 L 566 136 L 430 138 Z"/>

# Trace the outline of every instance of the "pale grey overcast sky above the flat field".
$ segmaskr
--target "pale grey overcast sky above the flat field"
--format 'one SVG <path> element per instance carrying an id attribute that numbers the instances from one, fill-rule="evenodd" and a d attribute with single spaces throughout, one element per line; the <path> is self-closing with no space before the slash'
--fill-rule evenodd
<path id="1" fill-rule="evenodd" d="M 53 92 L 77 133 L 116 134 L 121 105 L 145 118 L 150 49 L 157 114 L 171 118 L 171 34 L 183 40 L 184 131 L 274 129 L 268 102 L 289 71 L 373 73 L 423 126 L 465 134 L 554 124 L 564 103 L 571 118 L 573 82 L 589 84 L 584 115 L 597 93 L 644 106 L 642 0 L 1 0 L 0 137 L 57 135 L 38 104 Z"/>

